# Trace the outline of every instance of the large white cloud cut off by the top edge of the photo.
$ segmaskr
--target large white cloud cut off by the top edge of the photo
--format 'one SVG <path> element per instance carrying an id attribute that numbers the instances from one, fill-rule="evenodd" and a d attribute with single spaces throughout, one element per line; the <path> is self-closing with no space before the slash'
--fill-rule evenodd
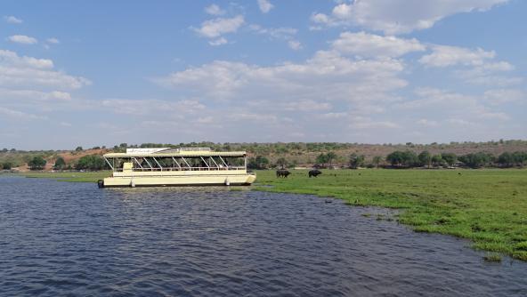
<path id="1" fill-rule="evenodd" d="M 356 25 L 393 35 L 431 28 L 437 21 L 450 15 L 461 12 L 483 12 L 507 1 L 355 0 L 350 4 L 336 4 L 330 15 L 313 13 L 312 21 L 330 26 Z"/>

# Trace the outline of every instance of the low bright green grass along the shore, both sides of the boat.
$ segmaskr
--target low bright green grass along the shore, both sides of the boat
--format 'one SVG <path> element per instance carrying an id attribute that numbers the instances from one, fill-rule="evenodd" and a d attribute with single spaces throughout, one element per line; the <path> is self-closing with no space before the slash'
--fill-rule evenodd
<path id="1" fill-rule="evenodd" d="M 322 170 L 308 178 L 291 170 L 277 179 L 259 170 L 252 189 L 335 197 L 347 205 L 399 209 L 397 221 L 417 232 L 472 241 L 472 247 L 527 261 L 527 170 L 525 169 L 360 169 Z M 95 182 L 109 172 L 23 173 L 29 178 Z M 490 261 L 487 260 L 487 261 Z"/>

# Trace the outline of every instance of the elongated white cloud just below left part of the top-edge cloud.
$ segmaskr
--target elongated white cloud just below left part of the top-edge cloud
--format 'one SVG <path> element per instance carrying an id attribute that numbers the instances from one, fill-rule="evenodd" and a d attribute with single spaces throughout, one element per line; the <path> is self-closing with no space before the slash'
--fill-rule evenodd
<path id="1" fill-rule="evenodd" d="M 362 57 L 399 57 L 409 52 L 422 52 L 426 46 L 417 39 L 403 39 L 394 36 L 378 36 L 365 32 L 344 32 L 332 46 L 344 54 Z"/>

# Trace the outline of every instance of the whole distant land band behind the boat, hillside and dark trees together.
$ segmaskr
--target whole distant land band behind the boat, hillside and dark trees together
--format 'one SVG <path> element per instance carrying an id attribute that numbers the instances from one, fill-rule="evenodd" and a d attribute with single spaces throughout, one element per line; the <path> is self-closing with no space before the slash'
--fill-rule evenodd
<path id="1" fill-rule="evenodd" d="M 294 166 L 324 167 L 512 167 L 525 165 L 527 140 L 450 142 L 415 144 L 360 144 L 339 142 L 215 143 L 211 141 L 179 144 L 120 143 L 71 150 L 0 150 L 0 169 L 28 165 L 42 170 L 101 170 L 108 168 L 102 154 L 124 152 L 126 148 L 197 148 L 215 151 L 245 150 L 250 168 Z M 65 160 L 66 159 L 66 160 Z M 47 165 L 47 166 L 46 166 Z"/>

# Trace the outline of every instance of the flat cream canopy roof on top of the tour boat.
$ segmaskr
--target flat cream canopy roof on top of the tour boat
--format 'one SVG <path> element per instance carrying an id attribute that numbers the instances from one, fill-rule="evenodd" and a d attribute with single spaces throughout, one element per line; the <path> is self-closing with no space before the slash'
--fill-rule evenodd
<path id="1" fill-rule="evenodd" d="M 104 157 L 245 157 L 245 151 L 212 151 L 210 148 L 126 148 L 126 153 Z"/>

